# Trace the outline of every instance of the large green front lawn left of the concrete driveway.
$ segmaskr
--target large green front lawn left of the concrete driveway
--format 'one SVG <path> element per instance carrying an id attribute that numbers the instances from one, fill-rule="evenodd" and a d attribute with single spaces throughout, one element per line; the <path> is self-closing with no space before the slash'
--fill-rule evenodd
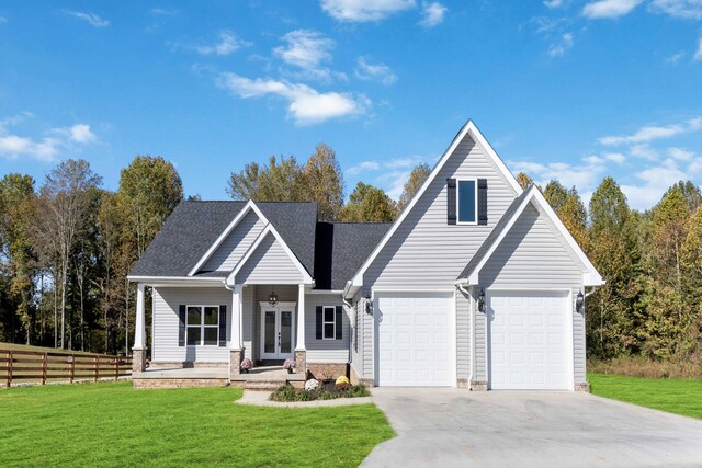
<path id="1" fill-rule="evenodd" d="M 240 389 L 131 383 L 0 391 L 0 466 L 358 466 L 393 437 L 373 404 L 262 408 Z"/>

